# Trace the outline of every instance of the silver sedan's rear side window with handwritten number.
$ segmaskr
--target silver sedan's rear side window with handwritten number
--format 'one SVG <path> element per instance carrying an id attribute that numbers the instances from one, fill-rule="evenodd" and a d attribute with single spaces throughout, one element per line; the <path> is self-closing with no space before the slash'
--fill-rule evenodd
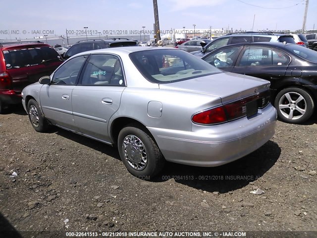
<path id="1" fill-rule="evenodd" d="M 113 55 L 92 55 L 81 85 L 111 85 L 124 86 L 121 63 Z"/>

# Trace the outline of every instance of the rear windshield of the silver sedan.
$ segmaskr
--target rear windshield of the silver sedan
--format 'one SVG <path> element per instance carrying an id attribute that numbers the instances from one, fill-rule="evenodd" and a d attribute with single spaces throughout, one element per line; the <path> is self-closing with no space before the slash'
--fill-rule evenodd
<path id="1" fill-rule="evenodd" d="M 154 83 L 172 83 L 222 72 L 181 50 L 139 51 L 129 56 L 142 75 Z"/>

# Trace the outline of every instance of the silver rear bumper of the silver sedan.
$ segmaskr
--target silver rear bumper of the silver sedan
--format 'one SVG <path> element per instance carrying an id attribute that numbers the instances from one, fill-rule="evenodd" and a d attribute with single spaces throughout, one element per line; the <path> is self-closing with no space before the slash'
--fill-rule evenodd
<path id="1" fill-rule="evenodd" d="M 193 125 L 193 131 L 148 127 L 165 159 L 213 167 L 240 159 L 264 145 L 274 134 L 276 110 L 271 105 L 254 118 L 214 126 Z"/>

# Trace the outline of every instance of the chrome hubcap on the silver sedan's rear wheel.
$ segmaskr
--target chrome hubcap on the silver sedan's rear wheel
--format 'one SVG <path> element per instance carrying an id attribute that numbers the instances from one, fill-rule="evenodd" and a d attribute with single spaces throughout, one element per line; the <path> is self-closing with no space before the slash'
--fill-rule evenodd
<path id="1" fill-rule="evenodd" d="M 127 135 L 123 139 L 122 151 L 124 159 L 135 170 L 144 170 L 148 163 L 148 154 L 143 142 L 135 135 Z"/>

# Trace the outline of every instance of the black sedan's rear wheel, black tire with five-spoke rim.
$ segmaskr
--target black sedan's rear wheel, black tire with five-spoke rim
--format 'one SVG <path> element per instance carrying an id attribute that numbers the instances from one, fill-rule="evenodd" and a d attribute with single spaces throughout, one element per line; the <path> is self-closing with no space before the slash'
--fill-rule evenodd
<path id="1" fill-rule="evenodd" d="M 287 99 L 289 97 L 292 102 Z M 296 102 L 300 97 L 303 97 L 303 99 Z M 313 115 L 315 104 L 309 92 L 301 88 L 291 87 L 281 90 L 276 95 L 274 107 L 277 110 L 277 116 L 280 120 L 300 124 Z M 302 109 L 305 109 L 305 111 Z"/>

